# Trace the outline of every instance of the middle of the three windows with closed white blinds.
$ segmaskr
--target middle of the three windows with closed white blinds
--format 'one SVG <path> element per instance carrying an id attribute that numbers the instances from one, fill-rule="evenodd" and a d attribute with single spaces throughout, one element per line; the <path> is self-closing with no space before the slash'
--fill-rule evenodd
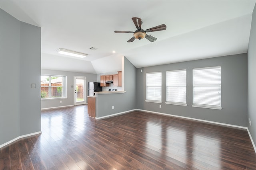
<path id="1" fill-rule="evenodd" d="M 186 70 L 173 70 L 166 72 L 166 104 L 187 106 L 186 79 Z"/>

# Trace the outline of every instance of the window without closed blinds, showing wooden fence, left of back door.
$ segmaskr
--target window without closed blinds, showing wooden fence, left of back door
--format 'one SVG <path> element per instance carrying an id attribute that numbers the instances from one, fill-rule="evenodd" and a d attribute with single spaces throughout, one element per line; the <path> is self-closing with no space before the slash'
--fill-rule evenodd
<path id="1" fill-rule="evenodd" d="M 66 76 L 41 75 L 41 99 L 66 97 Z"/>

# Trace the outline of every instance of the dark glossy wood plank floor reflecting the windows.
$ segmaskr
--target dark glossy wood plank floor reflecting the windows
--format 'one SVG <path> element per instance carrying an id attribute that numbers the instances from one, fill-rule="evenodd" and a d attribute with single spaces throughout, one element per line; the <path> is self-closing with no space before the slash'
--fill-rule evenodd
<path id="1" fill-rule="evenodd" d="M 140 111 L 95 120 L 86 105 L 41 121 L 42 134 L 0 149 L 1 170 L 256 170 L 244 129 Z"/>

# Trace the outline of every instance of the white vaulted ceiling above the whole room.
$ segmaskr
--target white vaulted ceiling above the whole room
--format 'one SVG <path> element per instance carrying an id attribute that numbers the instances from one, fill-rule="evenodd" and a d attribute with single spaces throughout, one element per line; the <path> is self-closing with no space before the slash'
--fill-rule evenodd
<path id="1" fill-rule="evenodd" d="M 105 73 L 121 70 L 121 56 L 139 68 L 246 53 L 255 1 L 0 0 L 0 8 L 42 27 L 43 69 Z M 132 17 L 144 30 L 162 23 L 167 29 L 147 33 L 157 38 L 153 43 L 127 43 L 133 34 L 114 30 L 135 31 Z M 66 57 L 59 48 L 88 57 Z"/>

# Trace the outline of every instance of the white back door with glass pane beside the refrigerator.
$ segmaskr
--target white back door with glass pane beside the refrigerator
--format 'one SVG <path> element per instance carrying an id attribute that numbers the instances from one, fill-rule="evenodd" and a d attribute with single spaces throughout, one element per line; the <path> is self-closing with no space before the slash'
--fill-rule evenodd
<path id="1" fill-rule="evenodd" d="M 74 105 L 86 103 L 86 77 L 74 76 Z"/>

